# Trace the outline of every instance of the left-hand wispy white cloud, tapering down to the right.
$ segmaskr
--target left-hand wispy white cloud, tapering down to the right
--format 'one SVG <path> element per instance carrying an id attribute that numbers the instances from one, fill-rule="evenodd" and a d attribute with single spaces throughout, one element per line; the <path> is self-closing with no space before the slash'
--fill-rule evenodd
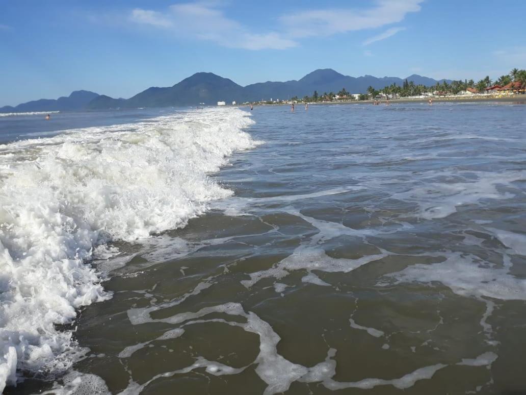
<path id="1" fill-rule="evenodd" d="M 129 19 L 230 48 L 284 50 L 297 45 L 278 32 L 251 32 L 248 27 L 226 17 L 216 3 L 210 2 L 175 4 L 165 13 L 136 8 Z"/>

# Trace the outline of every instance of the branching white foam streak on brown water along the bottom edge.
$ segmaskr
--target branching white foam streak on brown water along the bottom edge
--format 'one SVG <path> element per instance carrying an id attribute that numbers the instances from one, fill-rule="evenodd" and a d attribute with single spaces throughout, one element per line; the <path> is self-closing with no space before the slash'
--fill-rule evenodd
<path id="1" fill-rule="evenodd" d="M 172 315 L 171 317 L 164 319 L 153 319 L 150 317 L 151 309 L 131 309 L 128 311 L 128 317 L 132 324 L 143 324 L 146 322 L 164 322 L 169 324 L 180 324 L 179 329 L 183 330 L 183 327 L 192 325 L 195 323 L 204 322 L 221 322 L 233 327 L 239 327 L 247 332 L 255 333 L 259 336 L 259 354 L 254 361 L 249 365 L 241 368 L 232 368 L 225 364 L 209 361 L 203 357 L 197 357 L 195 362 L 186 368 L 169 371 L 165 373 L 157 374 L 144 384 L 138 384 L 133 380 L 130 380 L 128 387 L 121 392 L 121 395 L 135 395 L 145 389 L 151 382 L 159 379 L 172 377 L 176 374 L 184 374 L 194 369 L 205 368 L 205 371 L 215 376 L 221 376 L 223 374 L 238 374 L 247 369 L 251 365 L 257 365 L 255 371 L 259 378 L 267 384 L 267 388 L 263 392 L 264 395 L 273 395 L 276 393 L 285 392 L 289 389 L 290 384 L 295 381 L 305 383 L 321 382 L 323 386 L 330 390 L 338 390 L 345 388 L 362 388 L 370 389 L 377 386 L 391 385 L 399 389 L 406 389 L 412 387 L 417 381 L 430 379 L 434 373 L 438 370 L 446 367 L 444 364 L 436 364 L 433 366 L 427 366 L 424 368 L 417 369 L 411 373 L 406 374 L 398 379 L 385 380 L 385 379 L 363 379 L 357 382 L 339 382 L 333 379 L 336 374 L 336 349 L 330 348 L 327 351 L 327 358 L 325 361 L 317 363 L 313 367 L 306 367 L 300 364 L 291 362 L 281 356 L 277 351 L 277 345 L 281 338 L 272 329 L 271 325 L 262 320 L 253 312 L 245 312 L 239 303 L 225 303 L 217 306 L 205 307 L 197 312 L 185 312 Z M 228 321 L 219 318 L 206 319 L 206 315 L 213 313 L 224 313 L 228 315 L 237 315 L 244 317 L 246 322 Z M 138 318 L 138 319 L 137 319 Z M 172 334 L 175 333 L 177 336 L 184 332 L 176 332 L 176 329 L 168 331 L 168 339 L 173 338 Z M 166 334 L 166 333 L 165 333 Z M 161 335 L 160 338 L 163 338 Z M 128 357 L 129 350 L 137 350 L 143 348 L 145 343 L 139 343 L 137 345 L 129 346 L 123 351 L 123 355 Z M 484 358 L 487 360 L 488 358 Z"/>

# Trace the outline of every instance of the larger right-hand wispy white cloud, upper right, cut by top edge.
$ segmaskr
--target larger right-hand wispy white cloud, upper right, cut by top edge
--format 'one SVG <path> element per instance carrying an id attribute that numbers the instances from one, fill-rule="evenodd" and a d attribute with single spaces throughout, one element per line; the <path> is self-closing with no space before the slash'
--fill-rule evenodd
<path id="1" fill-rule="evenodd" d="M 329 36 L 398 23 L 410 12 L 420 11 L 423 0 L 378 0 L 369 8 L 302 11 L 282 16 L 293 37 Z"/>

